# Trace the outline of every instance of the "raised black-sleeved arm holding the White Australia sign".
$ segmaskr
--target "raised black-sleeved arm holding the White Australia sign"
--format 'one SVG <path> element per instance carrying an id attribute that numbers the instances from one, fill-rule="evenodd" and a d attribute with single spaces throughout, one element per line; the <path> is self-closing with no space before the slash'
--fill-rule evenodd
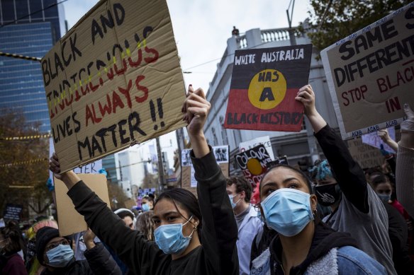
<path id="1" fill-rule="evenodd" d="M 315 137 L 318 139 L 320 148 L 322 148 L 332 172 L 335 173 L 335 178 L 345 197 L 359 211 L 368 213 L 367 180 L 365 180 L 364 171 L 352 158 L 345 142 L 329 127 L 316 110 L 315 93 L 311 85 L 299 89 L 296 100 L 303 103 L 305 115 L 311 122 Z"/>

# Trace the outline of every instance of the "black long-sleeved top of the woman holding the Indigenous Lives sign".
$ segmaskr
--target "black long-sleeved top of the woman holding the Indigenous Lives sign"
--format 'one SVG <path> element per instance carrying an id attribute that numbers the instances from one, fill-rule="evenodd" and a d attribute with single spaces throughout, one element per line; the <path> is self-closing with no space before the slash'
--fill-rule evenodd
<path id="1" fill-rule="evenodd" d="M 126 228 L 121 218 L 84 182 L 67 194 L 96 235 L 111 247 L 134 274 L 238 274 L 237 225 L 225 191 L 226 181 L 213 153 L 192 157 L 198 182 L 198 204 L 203 218 L 202 246 L 172 261 L 152 241 Z"/>

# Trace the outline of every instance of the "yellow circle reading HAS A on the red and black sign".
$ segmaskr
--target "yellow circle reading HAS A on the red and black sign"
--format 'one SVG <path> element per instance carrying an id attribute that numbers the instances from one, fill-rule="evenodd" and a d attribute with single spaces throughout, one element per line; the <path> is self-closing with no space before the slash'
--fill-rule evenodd
<path id="1" fill-rule="evenodd" d="M 262 110 L 273 109 L 286 95 L 286 78 L 274 69 L 259 71 L 249 85 L 249 100 L 254 107 Z"/>

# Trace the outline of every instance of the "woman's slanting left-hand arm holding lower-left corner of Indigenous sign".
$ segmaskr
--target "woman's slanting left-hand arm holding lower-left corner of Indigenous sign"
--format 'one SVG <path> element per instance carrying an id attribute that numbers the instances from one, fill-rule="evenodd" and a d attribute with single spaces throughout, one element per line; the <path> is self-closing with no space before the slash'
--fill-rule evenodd
<path id="1" fill-rule="evenodd" d="M 59 177 L 69 189 L 75 209 L 85 218 L 91 230 L 101 241 L 111 247 L 118 257 L 135 274 L 162 274 L 164 265 L 171 256 L 162 253 L 155 242 L 145 240 L 138 231 L 127 228 L 121 218 L 108 208 L 94 192 L 87 187 L 74 172 L 60 172 L 59 159 L 54 153 L 50 159 L 50 170 Z M 152 264 L 159 261 L 160 264 Z"/>

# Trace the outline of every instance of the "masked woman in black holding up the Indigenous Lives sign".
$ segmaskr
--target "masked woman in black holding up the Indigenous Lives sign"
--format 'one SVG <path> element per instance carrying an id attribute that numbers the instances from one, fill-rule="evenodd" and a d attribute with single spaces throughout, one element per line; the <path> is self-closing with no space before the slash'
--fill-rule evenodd
<path id="1" fill-rule="evenodd" d="M 237 224 L 225 191 L 226 180 L 204 136 L 210 103 L 202 89 L 189 93 L 182 107 L 197 180 L 198 200 L 189 190 L 167 189 L 154 204 L 155 242 L 127 228 L 121 218 L 74 172 L 60 173 L 60 156 L 50 170 L 62 179 L 77 211 L 99 239 L 111 247 L 134 274 L 237 275 Z"/>

